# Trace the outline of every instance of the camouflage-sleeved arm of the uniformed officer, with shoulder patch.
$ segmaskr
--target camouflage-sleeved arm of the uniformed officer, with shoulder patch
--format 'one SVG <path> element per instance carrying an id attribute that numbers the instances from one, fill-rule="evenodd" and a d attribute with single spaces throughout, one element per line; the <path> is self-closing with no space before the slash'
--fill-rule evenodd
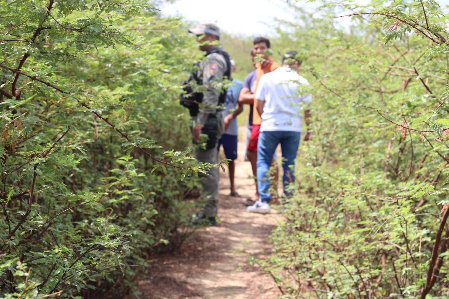
<path id="1" fill-rule="evenodd" d="M 202 67 L 202 85 L 206 88 L 206 91 L 203 92 L 202 105 L 195 119 L 195 140 L 200 140 L 201 129 L 204 127 L 209 114 L 216 113 L 221 91 L 217 90 L 213 85 L 223 81 L 225 69 L 226 64 L 217 59 L 217 57 L 210 57 Z"/>

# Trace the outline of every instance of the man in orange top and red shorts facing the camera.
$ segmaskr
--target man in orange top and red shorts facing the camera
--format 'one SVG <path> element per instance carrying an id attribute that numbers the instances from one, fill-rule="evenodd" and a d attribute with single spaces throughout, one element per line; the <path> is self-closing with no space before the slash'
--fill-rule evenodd
<path id="1" fill-rule="evenodd" d="M 259 80 L 262 77 L 262 75 L 269 73 L 273 70 L 276 70 L 278 67 L 280 67 L 279 64 L 274 62 L 266 53 L 267 50 L 270 48 L 270 41 L 264 37 L 256 37 L 253 41 L 253 54 L 257 57 L 261 57 L 262 61 L 257 62 L 256 67 L 256 81 L 255 81 L 255 89 L 254 94 L 257 91 L 257 86 L 259 84 Z M 258 55 L 259 54 L 259 55 Z M 253 100 L 254 109 L 253 109 L 253 125 L 251 129 L 251 137 L 248 144 L 248 151 L 247 151 L 247 157 L 251 162 L 251 166 L 253 167 L 254 176 L 256 176 L 255 173 L 255 165 L 257 162 L 257 141 L 259 140 L 259 131 L 260 131 L 260 123 L 262 123 L 262 119 L 260 118 L 259 113 L 257 112 L 257 109 L 255 107 L 256 101 Z M 257 190 L 256 185 L 256 195 L 259 195 L 259 192 Z M 248 198 L 245 204 L 252 205 L 254 202 L 256 202 L 259 198 Z"/>

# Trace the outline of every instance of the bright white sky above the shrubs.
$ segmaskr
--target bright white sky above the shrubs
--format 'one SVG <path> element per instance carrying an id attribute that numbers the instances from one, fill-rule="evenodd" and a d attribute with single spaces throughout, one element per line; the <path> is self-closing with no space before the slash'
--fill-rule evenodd
<path id="1" fill-rule="evenodd" d="M 449 0 L 436 0 L 441 6 Z M 369 0 L 358 0 L 368 3 Z M 303 8 L 313 11 L 320 1 L 308 3 L 300 1 Z M 272 36 L 275 18 L 293 20 L 286 0 L 176 0 L 160 7 L 162 15 L 182 16 L 184 20 L 195 22 L 216 22 L 221 30 L 233 35 Z M 290 12 L 289 12 L 290 10 Z M 447 10 L 445 10 L 446 13 Z M 350 18 L 337 19 L 341 26 L 348 26 Z"/>

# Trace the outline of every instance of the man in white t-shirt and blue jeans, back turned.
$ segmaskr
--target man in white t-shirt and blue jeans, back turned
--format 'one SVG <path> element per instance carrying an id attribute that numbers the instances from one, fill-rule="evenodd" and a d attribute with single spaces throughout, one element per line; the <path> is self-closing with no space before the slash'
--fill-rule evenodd
<path id="1" fill-rule="evenodd" d="M 267 172 L 278 144 L 281 144 L 282 149 L 284 197 L 291 194 L 287 185 L 295 181 L 295 158 L 302 129 L 301 103 L 312 101 L 312 97 L 304 91 L 308 81 L 298 75 L 301 61 L 297 56 L 298 52 L 295 51 L 286 53 L 282 67 L 263 75 L 255 93 L 256 109 L 262 117 L 257 145 L 257 185 L 260 197 L 247 208 L 249 212 L 270 211 L 270 179 Z M 304 111 L 304 117 L 309 125 L 309 110 Z M 311 132 L 307 132 L 304 141 L 311 137 Z"/>

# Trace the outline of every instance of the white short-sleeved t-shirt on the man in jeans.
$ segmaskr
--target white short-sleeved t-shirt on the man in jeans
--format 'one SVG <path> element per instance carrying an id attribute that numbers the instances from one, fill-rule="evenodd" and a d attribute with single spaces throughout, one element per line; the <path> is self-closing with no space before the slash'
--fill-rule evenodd
<path id="1" fill-rule="evenodd" d="M 311 102 L 312 96 L 298 93 L 301 85 L 308 84 L 306 79 L 288 67 L 279 67 L 263 75 L 255 93 L 257 100 L 265 101 L 260 132 L 301 132 L 300 103 Z"/>

